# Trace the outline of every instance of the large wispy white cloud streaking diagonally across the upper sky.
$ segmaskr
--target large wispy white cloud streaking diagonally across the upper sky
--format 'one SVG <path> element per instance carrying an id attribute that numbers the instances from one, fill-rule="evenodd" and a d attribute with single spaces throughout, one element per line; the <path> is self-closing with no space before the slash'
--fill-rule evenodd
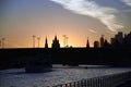
<path id="1" fill-rule="evenodd" d="M 64 9 L 70 10 L 76 14 L 87 15 L 99 20 L 111 32 L 117 32 L 123 26 L 117 23 L 115 13 L 116 9 L 98 5 L 91 0 L 50 0 L 61 4 Z"/>

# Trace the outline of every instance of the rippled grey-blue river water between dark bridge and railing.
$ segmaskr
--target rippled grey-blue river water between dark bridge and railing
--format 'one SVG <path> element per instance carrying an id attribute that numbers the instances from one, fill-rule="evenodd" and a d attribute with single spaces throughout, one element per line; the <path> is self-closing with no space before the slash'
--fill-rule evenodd
<path id="1" fill-rule="evenodd" d="M 38 74 L 25 74 L 24 69 L 11 69 L 0 71 L 0 87 L 43 87 L 51 86 L 82 78 L 91 78 L 109 74 L 122 73 L 131 69 L 110 69 L 110 67 L 59 67 L 55 66 L 51 72 Z"/>

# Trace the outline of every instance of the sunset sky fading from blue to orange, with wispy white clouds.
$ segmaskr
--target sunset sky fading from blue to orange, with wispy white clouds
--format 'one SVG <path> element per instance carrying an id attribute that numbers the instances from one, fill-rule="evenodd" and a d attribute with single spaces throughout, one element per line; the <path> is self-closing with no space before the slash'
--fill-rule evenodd
<path id="1" fill-rule="evenodd" d="M 131 32 L 131 0 L 0 0 L 0 39 L 7 48 L 32 48 L 33 35 L 40 47 L 55 35 L 63 47 L 93 46 L 102 35 L 108 39 L 117 32 Z M 36 47 L 37 47 L 36 39 Z"/>

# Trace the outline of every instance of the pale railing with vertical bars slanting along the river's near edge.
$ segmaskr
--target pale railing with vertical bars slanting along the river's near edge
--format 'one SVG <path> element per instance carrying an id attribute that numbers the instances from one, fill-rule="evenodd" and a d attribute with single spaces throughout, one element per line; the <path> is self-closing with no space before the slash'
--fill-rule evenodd
<path id="1" fill-rule="evenodd" d="M 47 87 L 116 87 L 130 79 L 131 72 L 127 72 Z"/>

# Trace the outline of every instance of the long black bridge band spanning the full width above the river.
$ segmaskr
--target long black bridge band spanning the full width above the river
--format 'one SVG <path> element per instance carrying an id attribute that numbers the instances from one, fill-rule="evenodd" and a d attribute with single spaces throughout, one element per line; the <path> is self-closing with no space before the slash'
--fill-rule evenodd
<path id="1" fill-rule="evenodd" d="M 28 60 L 45 55 L 51 64 L 131 66 L 131 49 L 126 48 L 20 48 L 0 49 L 0 69 L 23 67 Z"/>

